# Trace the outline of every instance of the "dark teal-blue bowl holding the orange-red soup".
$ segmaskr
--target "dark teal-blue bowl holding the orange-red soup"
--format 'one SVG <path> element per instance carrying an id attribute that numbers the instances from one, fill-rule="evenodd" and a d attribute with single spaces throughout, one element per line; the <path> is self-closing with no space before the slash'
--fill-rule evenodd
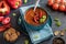
<path id="1" fill-rule="evenodd" d="M 37 8 L 38 8 L 38 9 L 42 9 L 42 8 L 40 8 L 40 7 L 37 7 Z M 30 9 L 32 9 L 32 8 L 30 8 Z M 28 9 L 28 10 L 30 10 L 30 9 Z M 44 9 L 42 9 L 42 10 L 44 10 Z M 44 11 L 45 11 L 45 10 L 44 10 Z M 40 24 L 40 25 L 29 24 L 29 23 L 24 20 L 24 16 L 25 16 L 25 13 L 24 13 L 23 20 L 24 20 L 24 23 L 25 23 L 26 28 L 29 28 L 29 29 L 31 29 L 31 30 L 41 30 L 41 29 L 43 29 L 43 26 L 46 24 L 46 22 L 47 22 L 47 20 L 48 20 L 48 14 L 47 14 L 46 11 L 45 11 L 45 13 L 46 13 L 47 19 L 46 19 L 46 21 L 45 21 L 44 23 L 42 23 L 42 24 Z"/>

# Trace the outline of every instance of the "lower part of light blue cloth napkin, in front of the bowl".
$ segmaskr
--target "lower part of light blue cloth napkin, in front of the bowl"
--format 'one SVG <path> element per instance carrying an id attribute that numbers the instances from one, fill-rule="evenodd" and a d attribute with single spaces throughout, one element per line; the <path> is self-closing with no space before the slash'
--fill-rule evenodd
<path id="1" fill-rule="evenodd" d="M 26 31 L 31 37 L 32 43 L 34 44 L 48 40 L 53 36 L 53 32 L 48 23 L 46 23 L 46 25 L 40 31 L 34 31 L 30 28 L 26 28 Z"/>

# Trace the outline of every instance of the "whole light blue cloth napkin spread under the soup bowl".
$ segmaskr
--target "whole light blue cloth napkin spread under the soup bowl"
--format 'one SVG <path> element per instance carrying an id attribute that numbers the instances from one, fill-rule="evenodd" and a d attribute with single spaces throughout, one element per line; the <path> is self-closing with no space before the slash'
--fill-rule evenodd
<path id="1" fill-rule="evenodd" d="M 20 8 L 20 12 L 22 14 L 22 20 L 23 20 L 23 15 L 24 15 L 25 11 L 31 7 L 34 7 L 34 4 Z M 24 23 L 24 21 L 23 21 L 23 23 Z M 48 23 L 46 23 L 38 31 L 31 30 L 25 23 L 24 23 L 24 25 L 25 25 L 25 29 L 26 29 L 33 44 L 37 44 L 37 43 L 45 41 L 47 38 L 51 38 L 53 36 L 53 31 L 52 31 L 52 28 L 48 25 Z"/>

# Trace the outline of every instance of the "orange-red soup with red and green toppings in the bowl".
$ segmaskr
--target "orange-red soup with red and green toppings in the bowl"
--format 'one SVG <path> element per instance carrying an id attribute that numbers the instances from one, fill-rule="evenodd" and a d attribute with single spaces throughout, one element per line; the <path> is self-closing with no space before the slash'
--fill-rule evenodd
<path id="1" fill-rule="evenodd" d="M 36 8 L 35 11 L 33 8 L 31 8 L 25 12 L 24 15 L 24 20 L 32 25 L 43 24 L 46 21 L 46 19 L 47 13 L 41 8 Z"/>

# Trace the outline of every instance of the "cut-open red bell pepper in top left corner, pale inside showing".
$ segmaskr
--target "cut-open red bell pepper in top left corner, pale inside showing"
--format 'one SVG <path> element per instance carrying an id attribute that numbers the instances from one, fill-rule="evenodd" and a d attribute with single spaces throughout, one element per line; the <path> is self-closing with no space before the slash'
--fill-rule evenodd
<path id="1" fill-rule="evenodd" d="M 7 15 L 10 13 L 10 7 L 7 4 L 6 1 L 0 1 L 0 16 Z"/>

